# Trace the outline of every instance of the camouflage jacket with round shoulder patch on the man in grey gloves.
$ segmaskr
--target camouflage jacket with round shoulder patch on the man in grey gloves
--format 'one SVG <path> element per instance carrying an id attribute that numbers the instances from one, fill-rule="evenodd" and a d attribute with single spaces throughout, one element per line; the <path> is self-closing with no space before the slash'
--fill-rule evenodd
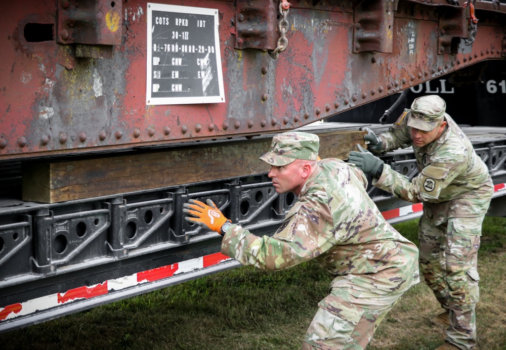
<path id="1" fill-rule="evenodd" d="M 411 145 L 406 109 L 380 137 L 385 152 Z M 445 113 L 447 128 L 439 139 L 424 147 L 412 145 L 418 174 L 409 180 L 385 164 L 373 185 L 412 203 L 424 202 L 436 225 L 450 217 L 478 217 L 488 209 L 493 193 L 487 166 L 469 139 Z"/>

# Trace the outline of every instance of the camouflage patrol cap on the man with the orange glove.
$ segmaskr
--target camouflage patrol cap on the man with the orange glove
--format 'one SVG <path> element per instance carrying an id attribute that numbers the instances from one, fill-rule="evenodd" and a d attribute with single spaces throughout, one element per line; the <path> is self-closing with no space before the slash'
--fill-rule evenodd
<path id="1" fill-rule="evenodd" d="M 274 166 L 287 165 L 296 159 L 316 160 L 319 148 L 320 138 L 314 134 L 282 133 L 272 138 L 271 150 L 260 159 Z"/>

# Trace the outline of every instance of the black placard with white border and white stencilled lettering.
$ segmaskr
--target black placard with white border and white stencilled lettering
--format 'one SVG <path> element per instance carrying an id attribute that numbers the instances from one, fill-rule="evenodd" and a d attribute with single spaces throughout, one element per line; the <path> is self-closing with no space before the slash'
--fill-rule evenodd
<path id="1" fill-rule="evenodd" d="M 148 3 L 147 105 L 225 102 L 218 10 Z"/>

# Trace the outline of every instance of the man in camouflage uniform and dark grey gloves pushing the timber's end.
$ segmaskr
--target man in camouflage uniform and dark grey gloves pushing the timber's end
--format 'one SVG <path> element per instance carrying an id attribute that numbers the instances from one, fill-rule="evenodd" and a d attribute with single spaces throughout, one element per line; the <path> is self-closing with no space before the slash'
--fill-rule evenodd
<path id="1" fill-rule="evenodd" d="M 351 152 L 350 162 L 372 174 L 376 187 L 424 203 L 419 222 L 421 272 L 444 309 L 432 322 L 447 327 L 446 342 L 438 349 L 470 349 L 476 344 L 481 224 L 493 184 L 487 166 L 445 110 L 439 96 L 419 97 L 388 132 L 376 136 L 367 129 L 364 138 L 374 154 L 413 147 L 418 168 L 413 179 L 364 149 Z"/>

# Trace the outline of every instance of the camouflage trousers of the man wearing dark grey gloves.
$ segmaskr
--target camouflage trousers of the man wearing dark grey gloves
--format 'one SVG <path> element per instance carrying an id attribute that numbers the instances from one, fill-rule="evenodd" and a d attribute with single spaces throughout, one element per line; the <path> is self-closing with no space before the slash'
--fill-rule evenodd
<path id="1" fill-rule="evenodd" d="M 420 270 L 441 307 L 449 311 L 446 340 L 461 349 L 476 345 L 477 270 L 484 216 L 453 217 L 436 226 L 420 218 Z"/>

